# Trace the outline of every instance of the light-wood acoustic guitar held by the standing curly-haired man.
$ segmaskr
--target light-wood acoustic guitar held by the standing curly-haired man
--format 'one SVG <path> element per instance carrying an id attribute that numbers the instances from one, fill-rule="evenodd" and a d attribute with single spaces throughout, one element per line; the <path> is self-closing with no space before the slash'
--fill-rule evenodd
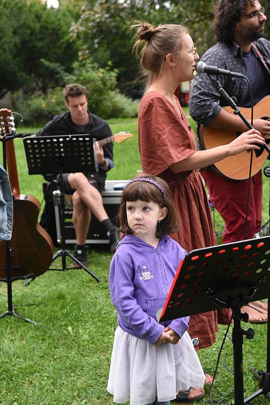
<path id="1" fill-rule="evenodd" d="M 233 114 L 231 107 L 223 108 Z M 241 112 L 247 119 L 251 118 L 251 108 L 243 107 L 241 108 Z M 270 119 L 270 96 L 264 97 L 254 106 L 253 117 L 254 119 Z M 240 135 L 238 132 L 213 127 L 203 127 L 202 125 L 199 129 L 199 140 L 204 149 L 211 149 L 215 148 L 216 146 L 226 145 L 232 142 L 238 135 Z M 214 172 L 233 180 L 247 179 L 249 176 L 250 153 L 250 151 L 245 150 L 238 155 L 226 157 L 213 164 L 211 168 Z M 258 173 L 267 156 L 268 152 L 265 149 L 263 149 L 258 155 L 257 153 L 253 153 L 251 176 Z"/>

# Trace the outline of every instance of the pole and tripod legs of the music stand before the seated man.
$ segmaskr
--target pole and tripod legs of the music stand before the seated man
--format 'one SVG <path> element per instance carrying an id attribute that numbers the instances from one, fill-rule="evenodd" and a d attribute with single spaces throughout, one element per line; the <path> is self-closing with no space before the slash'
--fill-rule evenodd
<path id="1" fill-rule="evenodd" d="M 64 193 L 64 185 L 63 185 L 63 176 L 62 173 L 59 175 L 58 186 L 60 190 L 56 190 L 56 199 L 60 199 L 60 230 L 61 230 L 61 249 L 53 256 L 52 263 L 58 258 L 62 258 L 62 268 L 50 268 L 49 270 L 70 270 L 73 267 L 67 267 L 66 258 L 69 257 L 74 262 L 76 262 L 83 270 L 85 270 L 88 274 L 92 275 L 97 281 L 101 281 L 96 274 L 90 271 L 86 266 L 84 266 L 78 259 L 76 259 L 69 250 L 66 249 L 66 238 L 65 238 L 65 193 Z M 59 205 L 58 205 L 59 207 Z"/>

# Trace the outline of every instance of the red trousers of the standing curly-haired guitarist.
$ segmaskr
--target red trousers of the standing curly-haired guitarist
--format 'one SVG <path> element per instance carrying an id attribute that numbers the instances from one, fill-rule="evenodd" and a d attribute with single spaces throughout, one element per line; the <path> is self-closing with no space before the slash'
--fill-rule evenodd
<path id="1" fill-rule="evenodd" d="M 201 170 L 210 200 L 225 222 L 224 244 L 244 239 L 248 180 L 224 178 L 210 169 Z M 251 178 L 246 239 L 251 239 L 261 226 L 261 171 Z"/>

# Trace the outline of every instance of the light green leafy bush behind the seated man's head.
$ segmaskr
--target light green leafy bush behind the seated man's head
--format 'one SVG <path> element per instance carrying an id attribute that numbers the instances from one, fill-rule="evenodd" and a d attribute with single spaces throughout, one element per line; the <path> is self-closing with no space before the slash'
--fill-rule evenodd
<path id="1" fill-rule="evenodd" d="M 116 89 L 117 70 L 110 66 L 76 62 L 73 73 L 65 74 L 65 83 L 80 83 L 87 89 L 88 108 L 102 118 L 137 116 L 139 102 L 133 101 Z M 43 125 L 56 114 L 65 111 L 63 89 L 55 88 L 47 95 L 20 99 L 13 95 L 13 105 L 22 114 L 25 125 Z"/>

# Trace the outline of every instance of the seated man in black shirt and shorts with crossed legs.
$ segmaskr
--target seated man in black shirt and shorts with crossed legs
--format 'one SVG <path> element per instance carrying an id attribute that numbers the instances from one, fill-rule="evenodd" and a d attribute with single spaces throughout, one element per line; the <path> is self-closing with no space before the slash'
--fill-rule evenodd
<path id="1" fill-rule="evenodd" d="M 87 110 L 85 87 L 67 85 L 63 91 L 68 112 L 56 115 L 39 131 L 38 136 L 89 134 L 101 140 L 112 136 L 109 125 L 102 118 Z M 83 265 L 87 264 L 85 239 L 92 214 L 101 222 L 109 239 L 110 251 L 115 252 L 119 238 L 117 229 L 103 207 L 101 191 L 104 190 L 106 172 L 113 168 L 113 143 L 104 147 L 95 144 L 99 171 L 96 173 L 65 173 L 63 175 L 65 194 L 73 194 L 73 224 L 77 245 L 74 256 Z M 74 268 L 79 265 L 74 262 Z"/>

